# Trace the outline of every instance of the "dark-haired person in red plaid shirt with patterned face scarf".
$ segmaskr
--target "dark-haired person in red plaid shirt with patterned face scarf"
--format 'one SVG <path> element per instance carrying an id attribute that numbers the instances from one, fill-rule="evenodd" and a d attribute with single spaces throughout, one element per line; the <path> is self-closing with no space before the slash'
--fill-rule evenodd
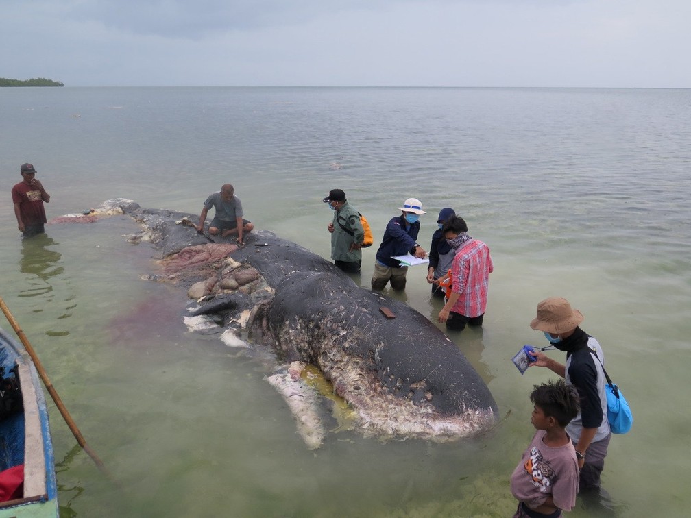
<path id="1" fill-rule="evenodd" d="M 463 218 L 453 218 L 442 226 L 446 242 L 456 251 L 451 265 L 451 296 L 439 311 L 446 329 L 462 331 L 467 325 L 482 325 L 487 307 L 489 274 L 494 270 L 489 247 L 468 236 Z"/>

